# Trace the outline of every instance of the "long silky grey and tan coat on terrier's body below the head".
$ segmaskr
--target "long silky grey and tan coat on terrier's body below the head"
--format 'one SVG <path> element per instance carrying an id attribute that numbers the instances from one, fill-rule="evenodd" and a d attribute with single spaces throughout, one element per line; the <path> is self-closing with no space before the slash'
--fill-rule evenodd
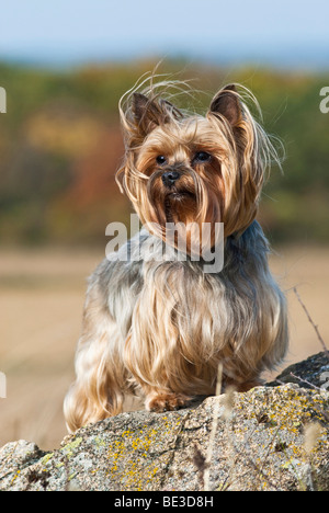
<path id="1" fill-rule="evenodd" d="M 285 298 L 257 221 L 227 239 L 217 274 L 177 251 L 161 262 L 162 241 L 146 231 L 128 247 L 128 262 L 114 253 L 90 278 L 78 379 L 65 403 L 71 430 L 121 412 L 136 388 L 214 394 L 219 362 L 228 383 L 252 381 L 286 351 Z"/>

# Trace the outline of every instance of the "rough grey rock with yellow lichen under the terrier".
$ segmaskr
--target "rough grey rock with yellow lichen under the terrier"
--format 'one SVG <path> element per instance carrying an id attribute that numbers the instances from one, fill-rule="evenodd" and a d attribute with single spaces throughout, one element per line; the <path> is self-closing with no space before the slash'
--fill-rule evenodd
<path id="1" fill-rule="evenodd" d="M 321 354 L 294 368 L 309 388 L 268 385 L 173 412 L 122 413 L 54 452 L 11 442 L 0 449 L 0 490 L 329 490 L 329 392 L 310 385 L 326 366 Z"/>

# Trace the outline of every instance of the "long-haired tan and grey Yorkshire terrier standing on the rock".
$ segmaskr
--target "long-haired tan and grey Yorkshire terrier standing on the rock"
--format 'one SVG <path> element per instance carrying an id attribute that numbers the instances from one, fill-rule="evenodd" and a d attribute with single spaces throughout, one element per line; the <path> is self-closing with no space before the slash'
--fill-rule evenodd
<path id="1" fill-rule="evenodd" d="M 120 413 L 126 395 L 141 394 L 151 411 L 213 395 L 219 365 L 224 386 L 246 391 L 286 352 L 285 297 L 256 220 L 265 172 L 277 160 L 246 96 L 257 101 L 230 84 L 200 115 L 173 104 L 178 90 L 175 81 L 144 81 L 120 102 L 117 181 L 144 229 L 90 277 L 77 379 L 65 399 L 70 431 Z M 211 249 L 220 223 L 224 266 L 205 272 L 195 227 L 212 227 Z M 174 237 L 170 259 L 168 224 L 185 229 L 185 251 Z"/>

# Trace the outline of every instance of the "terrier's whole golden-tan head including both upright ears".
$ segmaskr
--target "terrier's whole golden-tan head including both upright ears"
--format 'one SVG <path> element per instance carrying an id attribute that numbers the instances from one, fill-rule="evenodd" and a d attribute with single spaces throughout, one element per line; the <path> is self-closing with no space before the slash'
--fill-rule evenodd
<path id="1" fill-rule="evenodd" d="M 183 224 L 224 223 L 225 236 L 254 219 L 263 181 L 258 125 L 235 87 L 219 91 L 206 116 L 186 116 L 159 96 L 134 93 L 125 114 L 123 187 L 144 224 L 166 238 Z M 209 246 L 215 243 L 212 230 Z"/>

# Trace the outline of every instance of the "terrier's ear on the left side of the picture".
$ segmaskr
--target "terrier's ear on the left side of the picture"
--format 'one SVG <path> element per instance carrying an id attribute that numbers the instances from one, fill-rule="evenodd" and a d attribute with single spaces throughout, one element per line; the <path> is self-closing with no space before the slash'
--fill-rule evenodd
<path id="1" fill-rule="evenodd" d="M 170 115 L 177 111 L 167 100 L 152 100 L 140 93 L 133 94 L 132 110 L 135 124 L 144 136 L 157 126 L 169 123 Z"/>

